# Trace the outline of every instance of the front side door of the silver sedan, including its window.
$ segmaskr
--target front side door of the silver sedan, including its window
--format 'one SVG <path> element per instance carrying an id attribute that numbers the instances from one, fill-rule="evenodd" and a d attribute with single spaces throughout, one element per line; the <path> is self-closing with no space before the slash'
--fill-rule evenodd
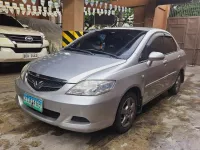
<path id="1" fill-rule="evenodd" d="M 143 103 L 148 103 L 151 99 L 165 90 L 166 84 L 166 62 L 164 60 L 154 61 L 150 66 L 147 65 L 148 57 L 151 52 L 162 52 L 163 34 L 154 34 L 145 49 L 141 53 L 139 62 L 146 70 L 143 72 L 144 77 L 144 97 Z"/>

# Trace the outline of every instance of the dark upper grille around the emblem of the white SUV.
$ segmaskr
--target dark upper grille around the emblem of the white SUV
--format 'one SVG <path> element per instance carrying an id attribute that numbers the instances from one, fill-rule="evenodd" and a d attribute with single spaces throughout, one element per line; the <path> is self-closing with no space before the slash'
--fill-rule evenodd
<path id="1" fill-rule="evenodd" d="M 28 36 L 28 35 L 12 35 L 6 34 L 11 41 L 15 41 L 16 43 L 39 43 L 42 44 L 42 37 L 41 36 Z M 27 41 L 26 37 L 31 37 L 32 41 Z"/>

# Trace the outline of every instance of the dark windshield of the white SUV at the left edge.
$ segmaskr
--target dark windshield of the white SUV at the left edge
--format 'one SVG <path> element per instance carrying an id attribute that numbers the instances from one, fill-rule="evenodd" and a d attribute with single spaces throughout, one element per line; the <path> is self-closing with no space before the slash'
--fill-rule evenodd
<path id="1" fill-rule="evenodd" d="M 0 25 L 23 28 L 23 26 L 17 20 L 5 14 L 0 14 Z"/>

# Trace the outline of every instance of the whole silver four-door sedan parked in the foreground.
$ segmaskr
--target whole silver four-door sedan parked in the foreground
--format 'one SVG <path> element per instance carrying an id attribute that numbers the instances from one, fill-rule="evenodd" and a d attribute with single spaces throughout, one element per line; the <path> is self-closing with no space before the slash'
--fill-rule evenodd
<path id="1" fill-rule="evenodd" d="M 124 133 L 145 104 L 184 82 L 186 54 L 164 30 L 107 28 L 67 44 L 16 79 L 21 109 L 63 129 Z"/>

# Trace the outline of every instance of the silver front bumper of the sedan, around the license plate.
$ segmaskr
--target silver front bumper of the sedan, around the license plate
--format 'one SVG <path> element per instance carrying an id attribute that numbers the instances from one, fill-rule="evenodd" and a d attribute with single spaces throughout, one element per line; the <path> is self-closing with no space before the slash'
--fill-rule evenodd
<path id="1" fill-rule="evenodd" d="M 19 78 L 16 80 L 16 102 L 31 116 L 67 130 L 89 133 L 112 126 L 118 107 L 114 93 L 110 92 L 100 96 L 66 95 L 66 89 L 71 86 L 66 85 L 56 92 L 36 92 L 26 81 L 23 82 Z M 59 114 L 59 117 L 46 116 L 25 106 L 23 104 L 24 93 L 42 98 L 44 109 Z M 73 117 L 82 117 L 89 122 L 74 121 Z"/>

